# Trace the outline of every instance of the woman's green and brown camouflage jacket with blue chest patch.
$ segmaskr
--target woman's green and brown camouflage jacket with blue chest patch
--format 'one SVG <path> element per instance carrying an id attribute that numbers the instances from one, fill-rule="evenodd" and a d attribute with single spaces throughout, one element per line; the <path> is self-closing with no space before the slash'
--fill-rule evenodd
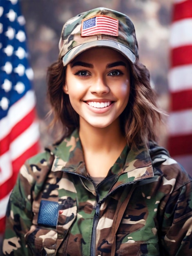
<path id="1" fill-rule="evenodd" d="M 98 159 L 99 161 L 99 159 Z M 77 131 L 22 166 L 5 255 L 191 255 L 191 182 L 165 149 L 126 146 L 97 186 Z"/>

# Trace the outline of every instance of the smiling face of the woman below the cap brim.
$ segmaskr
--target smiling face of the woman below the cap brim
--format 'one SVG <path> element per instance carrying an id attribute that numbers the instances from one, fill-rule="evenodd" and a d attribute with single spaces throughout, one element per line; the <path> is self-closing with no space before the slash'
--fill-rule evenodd
<path id="1" fill-rule="evenodd" d="M 80 128 L 119 126 L 129 99 L 129 63 L 113 49 L 89 49 L 67 65 L 64 92 L 80 117 Z"/>

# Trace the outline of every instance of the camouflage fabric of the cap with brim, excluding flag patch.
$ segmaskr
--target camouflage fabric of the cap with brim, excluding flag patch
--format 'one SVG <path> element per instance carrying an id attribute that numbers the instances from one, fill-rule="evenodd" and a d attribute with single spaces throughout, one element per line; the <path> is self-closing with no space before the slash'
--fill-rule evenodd
<path id="1" fill-rule="evenodd" d="M 117 19 L 118 36 L 105 34 L 81 36 L 82 20 L 96 15 L 106 15 Z M 78 14 L 69 19 L 63 26 L 59 42 L 59 57 L 63 57 L 63 65 L 65 66 L 81 52 L 97 46 L 111 47 L 134 63 L 136 57 L 138 58 L 138 44 L 135 28 L 130 18 L 123 13 L 104 7 Z"/>

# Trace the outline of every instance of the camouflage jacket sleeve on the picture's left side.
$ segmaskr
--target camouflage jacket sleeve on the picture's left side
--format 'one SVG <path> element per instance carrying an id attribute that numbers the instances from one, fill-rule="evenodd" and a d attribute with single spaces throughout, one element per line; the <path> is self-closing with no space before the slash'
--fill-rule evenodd
<path id="1" fill-rule="evenodd" d="M 6 230 L 3 241 L 4 255 L 28 255 L 25 234 L 29 231 L 33 213 L 31 210 L 31 183 L 33 177 L 24 165 L 9 198 L 6 213 Z"/>

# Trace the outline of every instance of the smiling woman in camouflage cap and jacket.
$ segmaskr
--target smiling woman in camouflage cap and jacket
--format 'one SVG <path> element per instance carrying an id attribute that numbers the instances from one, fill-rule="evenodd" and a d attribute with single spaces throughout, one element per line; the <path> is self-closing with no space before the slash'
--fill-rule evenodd
<path id="1" fill-rule="evenodd" d="M 63 27 L 48 93 L 65 138 L 21 168 L 6 255 L 190 255 L 191 180 L 164 148 L 132 21 L 96 8 Z"/>

